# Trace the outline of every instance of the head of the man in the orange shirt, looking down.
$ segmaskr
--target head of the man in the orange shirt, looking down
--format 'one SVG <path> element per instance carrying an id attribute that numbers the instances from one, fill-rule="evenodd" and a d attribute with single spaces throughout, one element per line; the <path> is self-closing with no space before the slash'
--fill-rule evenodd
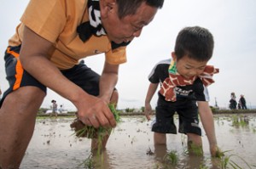
<path id="1" fill-rule="evenodd" d="M 139 37 L 161 8 L 164 0 L 101 0 L 102 25 L 116 43 Z"/>

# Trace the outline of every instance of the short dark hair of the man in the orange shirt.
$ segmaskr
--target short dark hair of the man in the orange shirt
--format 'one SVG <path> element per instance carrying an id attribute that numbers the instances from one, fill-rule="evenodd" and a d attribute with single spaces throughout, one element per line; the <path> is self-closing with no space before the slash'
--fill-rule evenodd
<path id="1" fill-rule="evenodd" d="M 139 8 L 143 2 L 154 8 L 162 8 L 164 4 L 164 0 L 116 0 L 119 10 L 119 19 L 127 15 L 136 14 L 137 8 Z"/>

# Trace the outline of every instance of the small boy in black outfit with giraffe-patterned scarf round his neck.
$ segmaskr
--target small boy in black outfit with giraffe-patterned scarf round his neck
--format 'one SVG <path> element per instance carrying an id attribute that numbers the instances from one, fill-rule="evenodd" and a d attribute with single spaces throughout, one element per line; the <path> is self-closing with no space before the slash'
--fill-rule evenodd
<path id="1" fill-rule="evenodd" d="M 166 133 L 177 134 L 173 121 L 173 115 L 177 112 L 178 132 L 187 134 L 189 150 L 193 150 L 193 146 L 202 150 L 199 112 L 207 132 L 211 154 L 216 155 L 218 145 L 207 93 L 207 86 L 214 82 L 212 75 L 218 73 L 218 69 L 207 65 L 212 57 L 213 46 L 212 34 L 207 29 L 199 26 L 186 27 L 177 36 L 172 59 L 155 65 L 148 76 L 151 82 L 145 99 L 145 115 L 148 120 L 152 111 L 150 101 L 160 83 L 155 109 L 156 121 L 152 127 L 154 144 L 166 144 Z"/>

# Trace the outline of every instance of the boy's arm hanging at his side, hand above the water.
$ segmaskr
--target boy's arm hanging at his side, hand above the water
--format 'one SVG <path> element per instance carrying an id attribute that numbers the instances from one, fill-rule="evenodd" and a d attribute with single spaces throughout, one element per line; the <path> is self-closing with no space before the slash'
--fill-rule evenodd
<path id="1" fill-rule="evenodd" d="M 145 110 L 144 110 L 144 114 L 146 115 L 148 121 L 150 120 L 149 114 L 152 112 L 150 101 L 153 98 L 157 87 L 158 87 L 158 83 L 150 83 L 148 87 L 148 93 L 145 99 Z"/>

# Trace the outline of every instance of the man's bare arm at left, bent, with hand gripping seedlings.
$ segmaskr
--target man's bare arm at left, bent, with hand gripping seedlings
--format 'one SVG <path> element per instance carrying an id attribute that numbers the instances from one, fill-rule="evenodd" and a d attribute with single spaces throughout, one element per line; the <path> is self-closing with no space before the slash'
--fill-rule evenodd
<path id="1" fill-rule="evenodd" d="M 94 127 L 114 127 L 113 114 L 102 99 L 85 93 L 81 87 L 70 82 L 53 65 L 47 54 L 52 43 L 25 27 L 20 50 L 20 62 L 25 70 L 62 97 L 69 99 L 78 109 L 79 119 Z"/>

